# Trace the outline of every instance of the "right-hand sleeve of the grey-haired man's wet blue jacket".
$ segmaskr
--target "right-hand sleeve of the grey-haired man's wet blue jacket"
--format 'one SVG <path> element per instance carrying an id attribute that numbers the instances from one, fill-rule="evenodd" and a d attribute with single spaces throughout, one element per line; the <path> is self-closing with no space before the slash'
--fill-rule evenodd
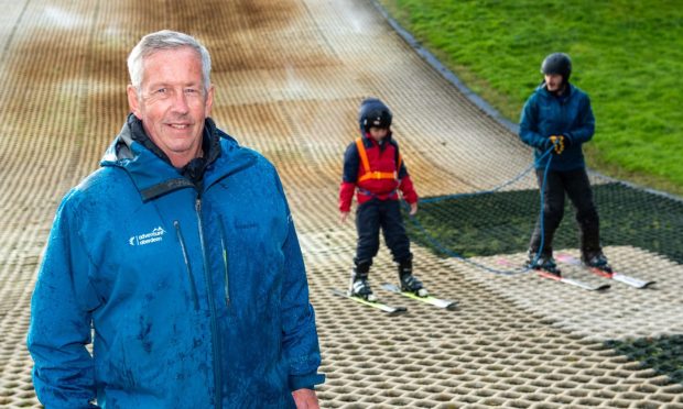
<path id="1" fill-rule="evenodd" d="M 278 180 L 280 185 L 280 181 Z M 280 186 L 282 191 L 282 187 Z M 283 195 L 284 198 L 284 195 Z M 284 283 L 282 285 L 282 346 L 290 363 L 291 390 L 310 388 L 325 382 L 317 373 L 321 350 L 315 313 L 308 302 L 308 283 L 296 230 L 288 207 L 288 236 L 282 246 Z"/>

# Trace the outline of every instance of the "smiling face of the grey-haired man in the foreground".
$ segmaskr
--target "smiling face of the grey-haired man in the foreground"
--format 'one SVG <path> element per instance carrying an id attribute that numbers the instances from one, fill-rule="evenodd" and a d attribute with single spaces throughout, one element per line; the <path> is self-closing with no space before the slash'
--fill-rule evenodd
<path id="1" fill-rule="evenodd" d="M 214 89 L 204 90 L 202 59 L 189 47 L 158 51 L 142 64 L 140 90 L 128 86 L 131 111 L 173 166 L 182 167 L 199 153 Z"/>

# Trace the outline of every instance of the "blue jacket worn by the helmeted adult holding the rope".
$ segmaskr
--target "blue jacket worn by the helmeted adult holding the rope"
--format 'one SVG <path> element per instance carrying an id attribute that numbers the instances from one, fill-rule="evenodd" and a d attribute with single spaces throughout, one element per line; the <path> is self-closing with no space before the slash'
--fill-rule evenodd
<path id="1" fill-rule="evenodd" d="M 593 139 L 595 117 L 590 99 L 581 89 L 568 85 L 567 91 L 555 96 L 542 84 L 529 97 L 522 109 L 519 136 L 527 145 L 534 147 L 535 168 L 544 169 L 549 156 L 541 159 L 544 146 L 552 135 L 564 135 L 568 140 L 560 155 L 553 155 L 551 170 L 574 170 L 585 167 L 582 145 Z"/>

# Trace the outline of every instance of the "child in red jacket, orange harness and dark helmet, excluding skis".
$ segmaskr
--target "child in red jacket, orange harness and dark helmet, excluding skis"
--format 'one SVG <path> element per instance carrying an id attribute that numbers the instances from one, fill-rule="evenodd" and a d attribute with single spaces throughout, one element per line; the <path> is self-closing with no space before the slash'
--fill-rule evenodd
<path id="1" fill-rule="evenodd" d="M 379 99 L 368 98 L 360 103 L 358 122 L 360 137 L 350 143 L 344 154 L 344 176 L 339 188 L 342 221 L 351 208 L 354 191 L 358 201 L 356 229 L 358 244 L 349 294 L 375 301 L 368 284 L 372 257 L 379 250 L 379 231 L 399 266 L 403 291 L 426 297 L 427 290 L 412 274 L 413 255 L 405 234 L 399 202 L 399 190 L 410 204 L 410 214 L 418 212 L 418 194 L 401 159 L 399 145 L 391 134 L 392 114 Z"/>

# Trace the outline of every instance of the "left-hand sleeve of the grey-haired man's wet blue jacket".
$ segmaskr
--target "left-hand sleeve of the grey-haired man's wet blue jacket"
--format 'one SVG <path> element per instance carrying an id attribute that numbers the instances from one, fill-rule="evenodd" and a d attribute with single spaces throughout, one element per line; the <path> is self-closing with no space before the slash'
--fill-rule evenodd
<path id="1" fill-rule="evenodd" d="M 65 199 L 57 211 L 31 301 L 28 346 L 33 385 L 46 408 L 96 408 L 95 371 L 86 345 L 97 300 L 93 267 Z"/>

